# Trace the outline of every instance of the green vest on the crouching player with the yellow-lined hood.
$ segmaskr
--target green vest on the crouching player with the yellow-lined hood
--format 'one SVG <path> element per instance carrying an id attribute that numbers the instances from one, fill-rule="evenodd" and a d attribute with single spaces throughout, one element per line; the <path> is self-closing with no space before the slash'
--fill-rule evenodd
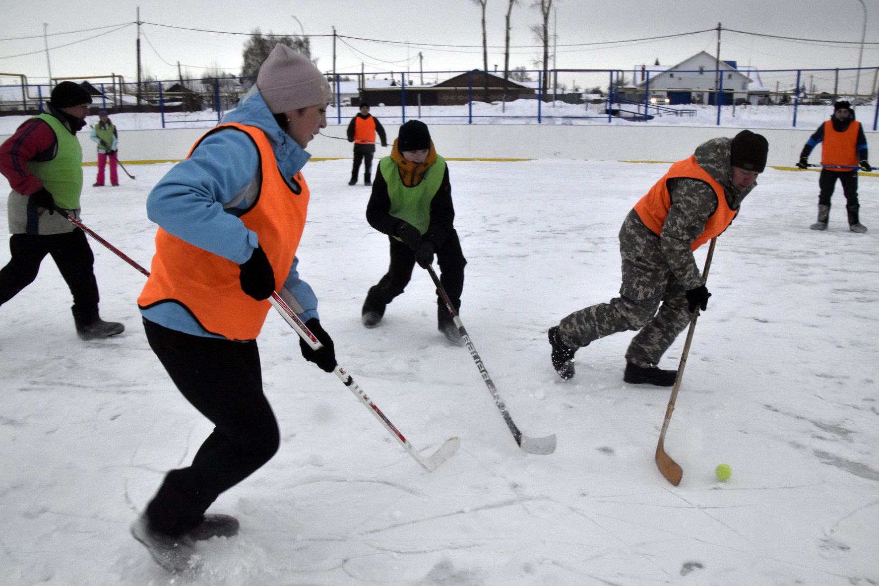
<path id="1" fill-rule="evenodd" d="M 391 157 L 381 159 L 379 170 L 388 184 L 389 214 L 405 220 L 424 234 L 431 225 L 431 201 L 446 175 L 446 159 L 437 155 L 436 162 L 427 170 L 421 183 L 415 187 L 403 185 L 396 161 Z"/>

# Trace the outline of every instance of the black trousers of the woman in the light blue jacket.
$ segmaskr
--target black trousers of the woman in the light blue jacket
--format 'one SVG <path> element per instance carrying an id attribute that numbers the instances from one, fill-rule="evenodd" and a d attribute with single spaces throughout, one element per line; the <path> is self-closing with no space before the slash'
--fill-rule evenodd
<path id="1" fill-rule="evenodd" d="M 197 527 L 217 496 L 278 451 L 255 340 L 205 338 L 143 320 L 149 347 L 186 400 L 214 423 L 193 463 L 171 470 L 147 506 L 153 527 L 177 537 Z"/>

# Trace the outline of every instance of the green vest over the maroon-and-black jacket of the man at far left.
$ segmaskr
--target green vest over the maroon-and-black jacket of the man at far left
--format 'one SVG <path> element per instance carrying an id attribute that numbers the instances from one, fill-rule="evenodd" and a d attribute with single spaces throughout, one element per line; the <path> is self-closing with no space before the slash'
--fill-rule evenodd
<path id="1" fill-rule="evenodd" d="M 83 148 L 76 135 L 70 134 L 52 114 L 40 114 L 36 118 L 54 131 L 58 152 L 50 161 L 27 161 L 27 170 L 40 179 L 59 208 L 79 209 L 79 195 L 83 192 Z"/>

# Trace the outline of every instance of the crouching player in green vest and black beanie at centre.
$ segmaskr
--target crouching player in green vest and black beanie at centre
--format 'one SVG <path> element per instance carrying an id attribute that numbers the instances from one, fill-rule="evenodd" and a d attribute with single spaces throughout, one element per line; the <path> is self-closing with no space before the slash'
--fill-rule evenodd
<path id="1" fill-rule="evenodd" d="M 424 122 L 410 120 L 403 124 L 390 156 L 379 162 L 367 203 L 367 222 L 388 235 L 390 267 L 367 293 L 360 316 L 364 326 L 381 324 L 385 307 L 403 293 L 415 263 L 426 268 L 432 264 L 434 254 L 443 289 L 454 308 L 461 307 L 467 260 L 454 230 L 452 185 L 446 160 L 434 149 Z M 452 314 L 439 294 L 437 326 L 448 341 L 462 343 Z"/>

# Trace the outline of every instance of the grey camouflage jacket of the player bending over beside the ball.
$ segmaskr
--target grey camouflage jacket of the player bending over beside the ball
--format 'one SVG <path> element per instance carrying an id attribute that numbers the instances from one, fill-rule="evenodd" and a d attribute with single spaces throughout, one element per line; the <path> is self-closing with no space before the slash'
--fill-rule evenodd
<path id="1" fill-rule="evenodd" d="M 756 181 L 742 191 L 732 187 L 730 165 L 731 138 L 712 138 L 695 151 L 696 163 L 723 186 L 730 209 L 738 209 L 757 186 Z M 714 189 L 701 179 L 676 178 L 669 181 L 672 207 L 665 218 L 662 233 L 648 229 L 633 209 L 620 230 L 621 252 L 628 258 L 663 261 L 686 289 L 705 284 L 690 245 L 705 230 L 708 218 L 717 210 Z"/>

